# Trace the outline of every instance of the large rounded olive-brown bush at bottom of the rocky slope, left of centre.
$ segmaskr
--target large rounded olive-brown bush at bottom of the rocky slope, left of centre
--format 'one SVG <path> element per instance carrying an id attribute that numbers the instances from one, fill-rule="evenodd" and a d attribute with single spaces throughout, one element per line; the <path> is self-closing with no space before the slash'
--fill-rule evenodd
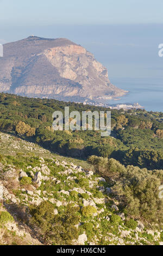
<path id="1" fill-rule="evenodd" d="M 41 202 L 39 206 L 31 206 L 30 223 L 39 229 L 45 245 L 70 245 L 72 240 L 78 238 L 78 230 L 74 225 L 80 220 L 77 214 L 79 209 L 68 205 L 67 210 L 61 215 L 54 215 L 54 209 L 54 205 L 48 201 Z"/>

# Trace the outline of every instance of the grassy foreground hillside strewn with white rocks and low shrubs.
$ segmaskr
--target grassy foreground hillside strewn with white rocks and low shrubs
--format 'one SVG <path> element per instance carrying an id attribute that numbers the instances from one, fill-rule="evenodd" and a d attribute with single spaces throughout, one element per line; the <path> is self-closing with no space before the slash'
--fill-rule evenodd
<path id="1" fill-rule="evenodd" d="M 90 163 L 0 136 L 1 245 L 162 244 L 158 225 L 123 212 L 111 179 Z"/>

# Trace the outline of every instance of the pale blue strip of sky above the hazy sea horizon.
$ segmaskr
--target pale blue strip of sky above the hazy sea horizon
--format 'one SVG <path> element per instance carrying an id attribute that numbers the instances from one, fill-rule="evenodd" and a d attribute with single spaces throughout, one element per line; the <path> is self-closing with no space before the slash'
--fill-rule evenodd
<path id="1" fill-rule="evenodd" d="M 8 25 L 163 23 L 162 0 L 0 0 Z"/>

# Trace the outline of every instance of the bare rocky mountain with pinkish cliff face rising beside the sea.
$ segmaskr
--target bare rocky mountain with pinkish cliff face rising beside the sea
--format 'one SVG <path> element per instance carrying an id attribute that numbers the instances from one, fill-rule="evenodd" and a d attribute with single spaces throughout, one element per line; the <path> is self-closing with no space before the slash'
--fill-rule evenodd
<path id="1" fill-rule="evenodd" d="M 0 92 L 81 102 L 126 93 L 110 83 L 92 53 L 70 40 L 29 36 L 3 48 Z"/>

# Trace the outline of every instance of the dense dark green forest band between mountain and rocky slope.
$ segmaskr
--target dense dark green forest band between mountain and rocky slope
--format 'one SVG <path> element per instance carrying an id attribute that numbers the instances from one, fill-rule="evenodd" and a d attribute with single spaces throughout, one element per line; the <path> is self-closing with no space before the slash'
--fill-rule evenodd
<path id="1" fill-rule="evenodd" d="M 162 169 L 163 113 L 145 109 L 111 109 L 111 136 L 101 131 L 53 131 L 52 114 L 65 106 L 70 112 L 109 111 L 108 108 L 0 94 L 0 130 L 40 144 L 54 153 L 87 159 L 113 158 L 124 166 Z"/>

